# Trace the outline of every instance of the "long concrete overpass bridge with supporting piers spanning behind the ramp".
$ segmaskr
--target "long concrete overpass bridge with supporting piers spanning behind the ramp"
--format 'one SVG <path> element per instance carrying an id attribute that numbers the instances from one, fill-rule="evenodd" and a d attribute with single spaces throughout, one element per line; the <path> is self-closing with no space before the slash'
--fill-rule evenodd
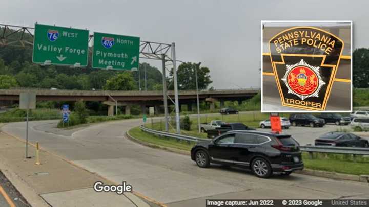
<path id="1" fill-rule="evenodd" d="M 210 102 L 210 109 L 215 108 L 215 102 L 219 101 L 220 106 L 224 101 L 238 101 L 239 103 L 252 98 L 260 91 L 259 88 L 250 89 L 228 89 L 228 90 L 200 90 L 199 100 Z M 20 93 L 34 92 L 37 101 L 100 101 L 109 105 L 108 114 L 113 115 L 115 102 L 119 106 L 125 106 L 126 114 L 131 113 L 132 105 L 140 105 L 142 112 L 146 113 L 147 107 L 155 107 L 155 111 L 160 111 L 163 105 L 162 90 L 147 91 L 125 91 L 125 90 L 50 90 L 50 89 L 0 89 L 0 100 L 19 101 Z M 174 100 L 174 91 L 168 91 L 168 97 Z M 196 90 L 179 90 L 179 104 L 187 105 L 192 110 L 192 105 L 196 103 Z M 168 105 L 172 104 L 168 100 Z"/>

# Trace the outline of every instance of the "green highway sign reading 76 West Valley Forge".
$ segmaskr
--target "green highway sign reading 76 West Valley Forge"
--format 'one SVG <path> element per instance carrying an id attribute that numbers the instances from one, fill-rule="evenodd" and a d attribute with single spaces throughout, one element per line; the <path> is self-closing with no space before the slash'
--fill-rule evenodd
<path id="1" fill-rule="evenodd" d="M 85 67 L 89 31 L 35 24 L 32 62 Z"/>

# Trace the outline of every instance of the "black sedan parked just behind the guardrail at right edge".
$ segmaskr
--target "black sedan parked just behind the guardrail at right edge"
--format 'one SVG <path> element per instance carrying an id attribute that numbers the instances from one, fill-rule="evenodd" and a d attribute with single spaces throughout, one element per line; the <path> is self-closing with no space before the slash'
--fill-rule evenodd
<path id="1" fill-rule="evenodd" d="M 328 132 L 315 140 L 315 145 L 329 145 L 336 147 L 369 147 L 367 140 L 353 133 Z"/>

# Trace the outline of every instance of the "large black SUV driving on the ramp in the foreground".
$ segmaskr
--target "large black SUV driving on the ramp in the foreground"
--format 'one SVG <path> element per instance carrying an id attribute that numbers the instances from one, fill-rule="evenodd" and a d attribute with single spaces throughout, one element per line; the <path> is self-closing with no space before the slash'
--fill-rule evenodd
<path id="1" fill-rule="evenodd" d="M 262 178 L 273 172 L 289 175 L 302 170 L 299 144 L 288 134 L 262 131 L 229 131 L 212 141 L 196 144 L 191 149 L 191 159 L 200 168 L 210 163 L 250 169 Z"/>

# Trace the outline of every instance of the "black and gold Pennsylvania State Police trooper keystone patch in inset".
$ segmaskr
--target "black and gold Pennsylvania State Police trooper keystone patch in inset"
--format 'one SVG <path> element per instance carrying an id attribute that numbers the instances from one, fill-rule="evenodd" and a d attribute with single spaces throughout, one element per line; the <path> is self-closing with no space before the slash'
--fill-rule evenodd
<path id="1" fill-rule="evenodd" d="M 325 110 L 344 42 L 315 27 L 293 27 L 269 41 L 283 106 Z"/>

